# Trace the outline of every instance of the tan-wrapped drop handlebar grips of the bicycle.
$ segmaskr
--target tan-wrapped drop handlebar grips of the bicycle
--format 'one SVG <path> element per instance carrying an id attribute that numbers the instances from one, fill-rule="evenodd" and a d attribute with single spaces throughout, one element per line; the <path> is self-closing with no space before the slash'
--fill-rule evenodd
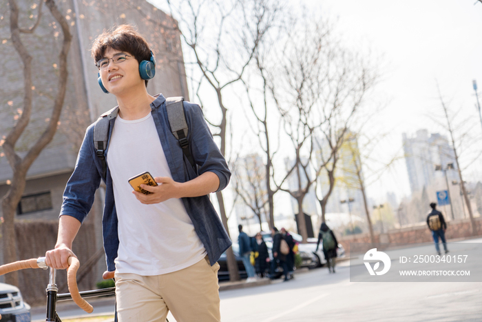
<path id="1" fill-rule="evenodd" d="M 67 287 L 72 295 L 72 300 L 78 305 L 79 308 L 87 313 L 92 313 L 94 308 L 87 303 L 85 299 L 82 299 L 81 294 L 78 293 L 78 286 L 76 281 L 76 274 L 79 266 L 81 265 L 78 259 L 74 256 L 70 256 L 68 259 L 69 268 L 67 268 Z M 45 264 L 45 257 L 39 257 L 38 259 L 25 259 L 24 261 L 16 261 L 0 266 L 0 275 L 14 272 L 16 270 L 23 270 L 25 268 L 43 268 L 47 269 Z"/>

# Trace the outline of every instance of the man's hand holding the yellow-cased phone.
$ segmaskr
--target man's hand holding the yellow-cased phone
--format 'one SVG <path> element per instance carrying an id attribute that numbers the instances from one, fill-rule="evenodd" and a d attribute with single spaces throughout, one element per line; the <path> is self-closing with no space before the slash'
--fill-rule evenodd
<path id="1" fill-rule="evenodd" d="M 142 194 L 137 191 L 132 192 L 138 201 L 145 205 L 151 205 L 161 203 L 171 198 L 181 197 L 180 190 L 182 183 L 178 183 L 169 177 L 155 177 L 154 181 L 158 183 L 157 186 L 140 185 L 140 188 L 151 192 L 150 194 Z"/>

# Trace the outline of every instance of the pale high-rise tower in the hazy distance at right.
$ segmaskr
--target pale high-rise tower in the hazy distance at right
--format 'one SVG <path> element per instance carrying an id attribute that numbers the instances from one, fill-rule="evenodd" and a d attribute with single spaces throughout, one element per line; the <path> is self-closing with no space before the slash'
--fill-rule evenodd
<path id="1" fill-rule="evenodd" d="M 435 185 L 441 177 L 435 171 L 435 165 L 442 165 L 447 168 L 448 163 L 453 163 L 454 150 L 450 147 L 448 139 L 439 133 L 428 135 L 428 131 L 418 130 L 415 137 L 404 137 L 405 161 L 412 193 L 421 192 L 423 187 Z M 447 176 L 452 179 L 454 171 L 448 171 Z"/>

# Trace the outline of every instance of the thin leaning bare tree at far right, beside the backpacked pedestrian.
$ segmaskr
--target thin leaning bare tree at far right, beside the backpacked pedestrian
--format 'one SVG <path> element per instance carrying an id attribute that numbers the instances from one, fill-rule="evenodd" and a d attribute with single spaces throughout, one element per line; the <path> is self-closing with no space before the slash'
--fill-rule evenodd
<path id="1" fill-rule="evenodd" d="M 446 101 L 444 101 L 444 99 L 442 97 L 442 94 L 440 92 L 440 88 L 439 88 L 438 85 L 437 85 L 437 89 L 439 91 L 439 99 L 440 99 L 440 103 L 441 103 L 441 108 L 443 109 L 443 115 L 444 115 L 445 121 L 446 121 L 445 128 L 446 128 L 446 130 L 448 130 L 448 132 L 450 134 L 450 141 L 452 143 L 452 148 L 454 149 L 454 159 L 455 159 L 455 163 L 457 165 L 457 172 L 459 174 L 460 188 L 461 188 L 461 192 L 463 194 L 463 199 L 465 200 L 465 205 L 467 205 L 467 210 L 468 210 L 469 217 L 470 217 L 470 225 L 472 227 L 472 235 L 476 236 L 477 226 L 476 226 L 476 223 L 475 223 L 475 220 L 474 220 L 474 214 L 472 212 L 472 205 L 470 204 L 470 199 L 468 197 L 468 193 L 467 193 L 467 190 L 465 188 L 465 181 L 463 181 L 463 177 L 462 177 L 463 169 L 461 168 L 460 150 L 463 149 L 463 148 L 472 150 L 470 145 L 473 145 L 476 142 L 478 143 L 479 140 L 471 140 L 469 138 L 471 127 L 470 127 L 470 122 L 468 120 L 464 120 L 464 121 L 462 121 L 460 123 L 457 123 L 457 124 L 455 123 L 454 115 L 457 115 L 457 114 L 452 114 L 452 111 L 450 111 L 449 106 L 446 104 Z M 459 134 L 459 135 L 457 135 L 457 134 Z M 469 143 L 469 145 L 464 145 L 465 140 L 467 140 L 467 139 L 470 139 L 470 140 L 468 140 L 468 141 L 470 141 L 470 143 Z M 482 151 L 475 151 L 475 152 L 477 154 L 477 157 L 475 157 L 473 159 L 473 161 L 478 159 L 481 156 L 481 153 L 482 153 Z"/>

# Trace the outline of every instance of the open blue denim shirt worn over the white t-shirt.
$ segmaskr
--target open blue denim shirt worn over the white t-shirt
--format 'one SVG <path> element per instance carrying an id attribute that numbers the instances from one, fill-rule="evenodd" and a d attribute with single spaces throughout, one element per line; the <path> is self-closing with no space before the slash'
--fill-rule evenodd
<path id="1" fill-rule="evenodd" d="M 172 178 L 177 182 L 186 182 L 198 177 L 198 174 L 210 171 L 218 175 L 220 181 L 218 191 L 222 190 L 227 186 L 231 177 L 227 163 L 224 157 L 222 157 L 218 146 L 213 141 L 213 136 L 202 116 L 199 105 L 185 102 L 184 108 L 189 128 L 188 139 L 191 153 L 198 165 L 198 173 L 193 170 L 193 167 L 182 153 L 178 140 L 171 133 L 163 94 L 160 94 L 151 103 L 152 117 L 156 124 L 160 143 L 163 146 Z M 117 112 L 118 109 L 114 109 L 109 113 L 109 139 L 114 128 Z M 112 177 L 109 172 L 109 144 L 107 143 L 107 149 L 104 152 L 107 161 L 107 176 L 101 178 L 102 164 L 96 156 L 96 149 L 94 148 L 94 125 L 95 122 L 85 132 L 74 172 L 65 187 L 60 216 L 64 214 L 69 215 L 82 223 L 85 217 L 87 217 L 90 208 L 92 208 L 94 194 L 101 184 L 101 179 L 105 182 L 105 204 L 102 219 L 104 250 L 107 270 L 114 271 L 114 259 L 117 257 L 119 240 L 116 203 L 112 188 Z M 222 252 L 231 246 L 231 240 L 226 230 L 224 230 L 216 210 L 207 195 L 182 198 L 182 203 L 184 203 L 187 214 L 191 218 L 194 230 L 196 230 L 198 237 L 206 248 L 211 265 L 214 265 Z M 139 232 L 139 234 L 142 233 Z"/>

